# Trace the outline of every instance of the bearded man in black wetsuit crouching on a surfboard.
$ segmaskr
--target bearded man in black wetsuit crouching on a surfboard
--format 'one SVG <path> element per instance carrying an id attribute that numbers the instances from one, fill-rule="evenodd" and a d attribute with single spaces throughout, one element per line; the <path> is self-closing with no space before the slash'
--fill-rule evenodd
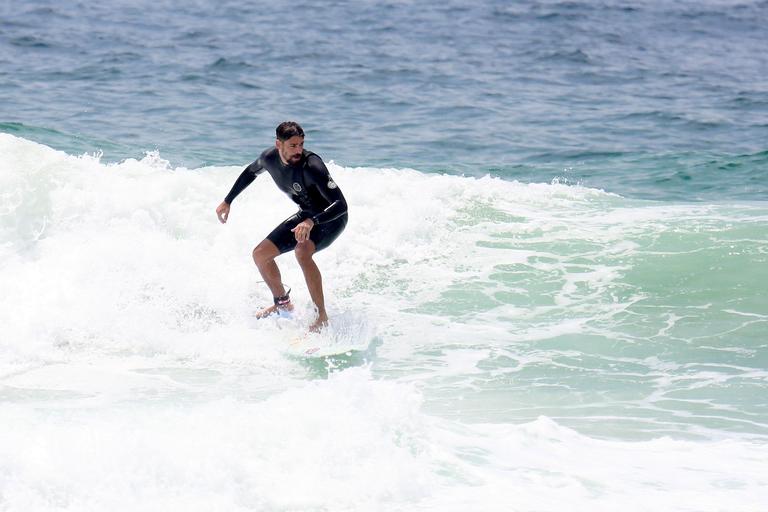
<path id="1" fill-rule="evenodd" d="M 323 160 L 304 149 L 304 130 L 292 121 L 281 123 L 275 130 L 275 147 L 268 148 L 237 178 L 227 197 L 216 208 L 223 224 L 229 218 L 232 201 L 256 176 L 267 171 L 277 187 L 299 206 L 299 211 L 272 230 L 253 250 L 253 261 L 274 297 L 274 304 L 256 313 L 258 318 L 280 311 L 291 311 L 293 305 L 281 280 L 275 258 L 294 251 L 309 295 L 317 308 L 317 319 L 310 326 L 319 331 L 328 325 L 323 281 L 312 256 L 328 247 L 347 225 L 347 202 L 333 181 Z"/>

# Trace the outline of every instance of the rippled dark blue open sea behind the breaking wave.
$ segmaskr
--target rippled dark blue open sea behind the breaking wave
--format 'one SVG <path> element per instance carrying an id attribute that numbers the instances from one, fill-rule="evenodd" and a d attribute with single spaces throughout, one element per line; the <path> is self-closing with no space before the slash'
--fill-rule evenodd
<path id="1" fill-rule="evenodd" d="M 761 200 L 768 2 L 0 3 L 0 131 L 245 164 L 281 121 L 347 166 Z"/>

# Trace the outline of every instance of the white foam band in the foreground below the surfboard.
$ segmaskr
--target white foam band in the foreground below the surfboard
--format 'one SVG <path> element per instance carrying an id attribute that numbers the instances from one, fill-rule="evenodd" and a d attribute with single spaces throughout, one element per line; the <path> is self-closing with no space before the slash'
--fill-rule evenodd
<path id="1" fill-rule="evenodd" d="M 350 369 L 266 399 L 5 405 L 6 510 L 760 510 L 768 448 L 459 425 Z M 715 462 L 716 461 L 716 462 Z"/>

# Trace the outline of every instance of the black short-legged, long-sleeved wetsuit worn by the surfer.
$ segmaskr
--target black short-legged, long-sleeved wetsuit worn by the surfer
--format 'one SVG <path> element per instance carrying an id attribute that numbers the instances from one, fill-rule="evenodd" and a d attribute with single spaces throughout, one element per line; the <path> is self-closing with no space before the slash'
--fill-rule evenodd
<path id="1" fill-rule="evenodd" d="M 235 197 L 264 171 L 272 176 L 280 190 L 299 205 L 297 213 L 285 219 L 267 235 L 267 239 L 281 253 L 296 247 L 296 236 L 291 229 L 304 219 L 312 219 L 315 223 L 309 238 L 318 251 L 328 247 L 344 231 L 347 225 L 347 201 L 328 173 L 323 160 L 310 151 L 302 153 L 299 163 L 286 165 L 280 159 L 277 148 L 265 150 L 258 160 L 245 168 L 224 201 L 232 204 Z"/>

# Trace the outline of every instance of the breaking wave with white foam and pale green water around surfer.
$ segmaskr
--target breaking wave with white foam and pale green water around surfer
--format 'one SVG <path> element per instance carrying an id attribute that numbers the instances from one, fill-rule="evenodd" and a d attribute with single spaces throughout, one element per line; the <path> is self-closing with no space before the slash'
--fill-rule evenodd
<path id="1" fill-rule="evenodd" d="M 310 360 L 252 318 L 269 180 L 221 225 L 241 166 L 0 159 L 0 510 L 768 503 L 764 203 L 328 162 L 316 260 L 364 350 Z"/>

